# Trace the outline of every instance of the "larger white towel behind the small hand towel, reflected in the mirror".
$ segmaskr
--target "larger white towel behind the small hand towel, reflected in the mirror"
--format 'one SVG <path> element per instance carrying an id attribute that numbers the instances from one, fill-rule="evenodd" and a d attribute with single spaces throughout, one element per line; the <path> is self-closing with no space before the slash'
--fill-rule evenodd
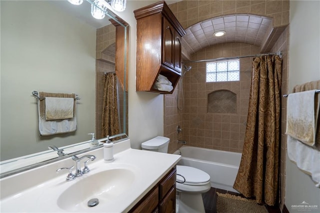
<path id="1" fill-rule="evenodd" d="M 40 100 L 38 100 L 40 101 Z M 74 101 L 76 104 L 76 101 Z M 76 130 L 76 115 L 72 118 L 60 120 L 46 120 L 44 113 L 40 114 L 40 104 L 38 102 L 39 131 L 40 135 L 51 135 L 59 133 L 67 133 Z M 76 105 L 74 105 L 76 108 Z"/>

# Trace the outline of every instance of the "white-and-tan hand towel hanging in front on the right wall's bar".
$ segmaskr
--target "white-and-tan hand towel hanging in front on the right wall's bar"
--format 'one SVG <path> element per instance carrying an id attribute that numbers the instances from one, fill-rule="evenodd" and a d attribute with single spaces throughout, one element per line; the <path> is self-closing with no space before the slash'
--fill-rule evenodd
<path id="1" fill-rule="evenodd" d="M 315 89 L 289 94 L 285 133 L 306 145 L 315 146 L 319 105 Z"/>

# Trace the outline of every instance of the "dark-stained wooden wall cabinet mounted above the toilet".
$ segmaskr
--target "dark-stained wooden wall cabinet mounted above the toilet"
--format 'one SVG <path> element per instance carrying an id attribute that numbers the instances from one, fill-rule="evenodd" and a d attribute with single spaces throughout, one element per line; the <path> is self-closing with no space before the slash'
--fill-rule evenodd
<path id="1" fill-rule="evenodd" d="M 184 29 L 164 1 L 136 9 L 136 91 L 172 93 L 181 76 L 181 37 Z M 171 91 L 153 88 L 162 74 Z"/>

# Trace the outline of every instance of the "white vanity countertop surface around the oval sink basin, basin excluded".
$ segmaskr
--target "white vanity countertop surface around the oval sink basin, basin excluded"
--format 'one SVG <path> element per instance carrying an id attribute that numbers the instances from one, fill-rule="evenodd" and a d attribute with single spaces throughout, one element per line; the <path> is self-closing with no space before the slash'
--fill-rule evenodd
<path id="1" fill-rule="evenodd" d="M 65 181 L 67 171 L 55 173 L 59 167 L 74 164 L 69 158 L 0 179 L 1 212 L 127 212 L 178 162 L 180 155 L 131 149 L 129 139 L 120 143 L 114 144 L 111 163 L 103 161 L 102 148 L 81 154 L 93 154 L 97 158 L 88 163 L 89 173 L 72 181 Z M 65 209 L 57 204 L 61 193 L 72 184 L 112 168 L 127 168 L 134 173 L 125 192 L 101 199 L 94 207 Z M 98 184 L 101 183 L 91 181 L 90 187 Z"/>

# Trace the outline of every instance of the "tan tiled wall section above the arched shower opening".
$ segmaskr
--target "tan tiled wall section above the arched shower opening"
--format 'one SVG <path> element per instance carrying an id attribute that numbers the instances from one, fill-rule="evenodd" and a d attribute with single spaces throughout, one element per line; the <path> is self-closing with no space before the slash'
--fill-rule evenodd
<path id="1" fill-rule="evenodd" d="M 183 28 L 208 18 L 236 13 L 271 17 L 274 27 L 289 23 L 289 0 L 182 0 L 169 7 Z"/>

